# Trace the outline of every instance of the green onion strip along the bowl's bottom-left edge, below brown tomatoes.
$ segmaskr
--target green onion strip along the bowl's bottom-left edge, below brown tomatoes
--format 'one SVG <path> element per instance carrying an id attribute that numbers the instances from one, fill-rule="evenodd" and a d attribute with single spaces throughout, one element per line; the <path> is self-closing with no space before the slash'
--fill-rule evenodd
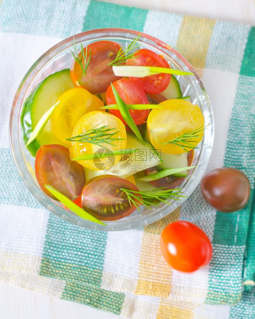
<path id="1" fill-rule="evenodd" d="M 93 221 L 94 223 L 106 226 L 102 221 L 90 215 L 87 211 L 84 211 L 81 207 L 73 203 L 69 198 L 54 189 L 51 185 L 44 185 L 44 187 L 48 189 L 49 192 L 51 192 L 61 203 L 66 205 L 76 215 L 80 216 L 83 219 L 87 219 Z"/>

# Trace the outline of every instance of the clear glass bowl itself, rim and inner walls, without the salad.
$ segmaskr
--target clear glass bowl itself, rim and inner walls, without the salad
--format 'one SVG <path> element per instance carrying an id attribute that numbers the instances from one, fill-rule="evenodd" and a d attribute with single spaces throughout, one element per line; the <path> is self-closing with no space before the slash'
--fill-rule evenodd
<path id="1" fill-rule="evenodd" d="M 124 45 L 126 47 L 138 34 L 139 32 L 133 30 L 108 28 L 79 33 L 74 36 L 74 39 L 78 49 L 81 46 L 81 41 L 83 47 L 85 47 L 86 44 L 99 40 L 116 41 L 120 46 Z M 189 171 L 188 177 L 178 187 L 182 188 L 181 195 L 186 197 L 181 197 L 180 200 L 170 200 L 171 205 L 162 203 L 161 206 L 153 206 L 152 210 L 142 206 L 140 211 L 136 210 L 130 216 L 120 220 L 106 221 L 105 224 L 107 226 L 103 226 L 81 219 L 70 210 L 64 208 L 59 202 L 47 197 L 40 189 L 33 168 L 35 159 L 25 149 L 22 138 L 20 114 L 25 100 L 36 85 L 48 75 L 70 67 L 73 60 L 70 52 L 73 37 L 67 38 L 50 48 L 32 65 L 20 83 L 13 100 L 10 115 L 10 142 L 12 155 L 23 182 L 36 200 L 49 211 L 61 219 L 80 227 L 101 231 L 120 231 L 143 227 L 165 217 L 180 206 L 194 191 L 206 170 L 210 158 L 214 136 L 213 114 L 209 97 L 201 79 L 188 61 L 168 44 L 144 33 L 141 34 L 137 42 L 141 45 L 139 48 L 148 48 L 157 54 L 163 55 L 172 68 L 194 73 L 194 75 L 176 76 L 176 78 L 181 86 L 183 96 L 190 95 L 191 102 L 198 105 L 201 109 L 204 115 L 205 126 L 210 123 L 207 129 L 204 130 L 203 139 L 199 143 L 198 148 L 194 150 L 192 165 L 197 165 L 197 167 Z"/>

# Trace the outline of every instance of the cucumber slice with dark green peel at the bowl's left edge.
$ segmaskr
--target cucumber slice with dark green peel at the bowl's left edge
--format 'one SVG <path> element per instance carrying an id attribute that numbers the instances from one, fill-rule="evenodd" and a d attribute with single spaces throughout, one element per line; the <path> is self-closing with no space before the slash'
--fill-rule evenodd
<path id="1" fill-rule="evenodd" d="M 70 70 L 65 69 L 49 75 L 32 91 L 25 101 L 21 113 L 21 130 L 25 143 L 27 143 L 41 117 L 53 106 L 61 93 L 74 87 L 70 78 Z M 32 156 L 35 156 L 41 145 L 48 144 L 64 145 L 53 134 L 50 120 L 41 134 L 28 146 L 28 150 Z"/>

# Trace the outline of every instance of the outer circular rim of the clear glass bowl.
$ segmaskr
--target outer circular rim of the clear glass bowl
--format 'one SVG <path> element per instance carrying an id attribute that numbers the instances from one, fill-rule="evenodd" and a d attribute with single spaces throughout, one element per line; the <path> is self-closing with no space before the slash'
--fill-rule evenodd
<path id="1" fill-rule="evenodd" d="M 79 41 L 89 41 L 92 39 L 95 39 L 95 35 L 97 35 L 98 38 L 100 37 L 120 37 L 120 38 L 127 38 L 130 36 L 131 39 L 137 37 L 140 34 L 138 31 L 129 30 L 129 29 L 121 29 L 121 28 L 105 28 L 105 29 L 95 29 L 95 30 L 89 30 L 82 33 L 78 33 L 74 35 L 75 42 Z M 168 44 L 166 44 L 163 41 L 160 41 L 159 39 L 156 39 L 150 35 L 147 35 L 145 33 L 141 33 L 140 39 L 144 39 L 145 44 L 153 44 L 154 47 L 162 50 L 166 55 L 168 55 L 170 52 L 174 54 L 177 57 L 178 65 L 180 70 L 183 70 L 183 68 L 180 66 L 180 63 L 184 65 L 185 70 L 190 70 L 192 73 L 194 73 L 194 76 L 188 76 L 189 80 L 190 77 L 195 77 L 195 80 L 198 82 L 198 88 L 201 89 L 203 93 L 203 98 L 205 99 L 204 102 L 204 117 L 205 117 L 205 125 L 209 124 L 209 127 L 207 130 L 204 131 L 204 137 L 202 140 L 202 146 L 201 151 L 199 153 L 198 161 L 197 161 L 197 167 L 193 170 L 192 174 L 189 176 L 188 181 L 185 183 L 185 186 L 183 188 L 183 194 L 187 195 L 185 198 L 181 198 L 180 201 L 175 201 L 174 204 L 171 206 L 169 204 L 164 204 L 161 207 L 153 210 L 151 213 L 131 219 L 120 219 L 117 221 L 107 222 L 108 226 L 99 225 L 84 219 L 81 219 L 79 216 L 76 216 L 72 214 L 70 211 L 67 211 L 63 207 L 61 207 L 59 204 L 55 203 L 52 199 L 47 197 L 42 190 L 39 188 L 39 186 L 33 181 L 31 181 L 31 176 L 28 173 L 28 170 L 25 166 L 25 162 L 23 160 L 22 163 L 22 155 L 20 150 L 20 144 L 18 139 L 18 134 L 15 135 L 15 130 L 17 129 L 16 125 L 19 125 L 19 123 L 15 123 L 15 111 L 17 114 L 17 108 L 19 108 L 18 113 L 18 121 L 20 120 L 20 111 L 21 107 L 23 105 L 23 100 L 25 97 L 25 93 L 32 81 L 32 79 L 36 76 L 36 74 L 40 71 L 40 69 L 48 62 L 50 59 L 52 59 L 54 56 L 62 52 L 63 50 L 70 47 L 70 44 L 73 42 L 73 36 L 69 37 L 63 41 L 60 41 L 56 45 L 54 45 L 52 48 L 47 50 L 42 56 L 39 57 L 39 59 L 31 66 L 31 68 L 27 71 L 25 74 L 23 80 L 21 81 L 17 93 L 15 95 L 15 98 L 12 103 L 11 107 L 11 114 L 10 114 L 10 122 L 9 122 L 9 133 L 10 133 L 10 144 L 11 144 L 11 152 L 13 155 L 13 159 L 15 162 L 15 165 L 18 169 L 18 172 L 25 183 L 26 187 L 29 189 L 29 191 L 32 193 L 32 195 L 48 210 L 53 212 L 55 215 L 60 217 L 63 220 L 68 221 L 69 223 L 72 223 L 77 226 L 81 226 L 84 228 L 89 229 L 95 229 L 100 231 L 120 231 L 120 230 L 127 230 L 127 229 L 133 229 L 133 228 L 139 228 L 146 225 L 149 225 L 169 213 L 171 213 L 174 209 L 179 207 L 187 198 L 188 196 L 194 191 L 194 189 L 199 184 L 203 174 L 205 173 L 207 164 L 209 162 L 209 158 L 211 155 L 212 145 L 213 145 L 213 137 L 214 137 L 214 121 L 213 121 L 213 112 L 211 109 L 211 104 L 209 101 L 209 97 L 205 91 L 205 88 L 202 84 L 201 79 L 199 78 L 198 74 L 195 72 L 194 68 L 188 63 L 188 61 L 174 48 L 170 47 Z M 156 44 L 157 46 L 155 46 Z M 169 52 L 167 54 L 167 52 Z M 29 81 L 27 83 L 27 81 Z M 15 125 L 16 124 L 16 125 Z M 18 129 L 17 129 L 18 130 Z M 18 143 L 18 145 L 17 145 Z M 16 145 L 16 147 L 15 147 Z M 17 147 L 18 146 L 18 147 Z M 30 177 L 29 177 L 30 176 Z M 178 204 L 177 204 L 178 203 Z M 170 210 L 169 210 L 170 208 Z"/>

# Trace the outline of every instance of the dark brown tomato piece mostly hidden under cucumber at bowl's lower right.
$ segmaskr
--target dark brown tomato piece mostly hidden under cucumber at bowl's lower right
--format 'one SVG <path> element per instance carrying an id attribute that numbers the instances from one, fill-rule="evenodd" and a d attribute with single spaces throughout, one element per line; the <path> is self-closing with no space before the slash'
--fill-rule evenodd
<path id="1" fill-rule="evenodd" d="M 189 151 L 188 153 L 188 166 L 191 165 L 192 160 L 194 157 L 194 150 Z M 148 174 L 153 174 L 157 173 L 158 170 L 155 168 L 148 168 L 144 170 L 145 176 Z M 174 177 L 172 175 L 168 175 L 166 177 L 159 178 L 155 181 L 151 181 L 151 183 L 154 187 L 159 188 L 159 187 L 167 187 L 167 189 L 174 189 L 178 187 L 186 177 Z"/>

